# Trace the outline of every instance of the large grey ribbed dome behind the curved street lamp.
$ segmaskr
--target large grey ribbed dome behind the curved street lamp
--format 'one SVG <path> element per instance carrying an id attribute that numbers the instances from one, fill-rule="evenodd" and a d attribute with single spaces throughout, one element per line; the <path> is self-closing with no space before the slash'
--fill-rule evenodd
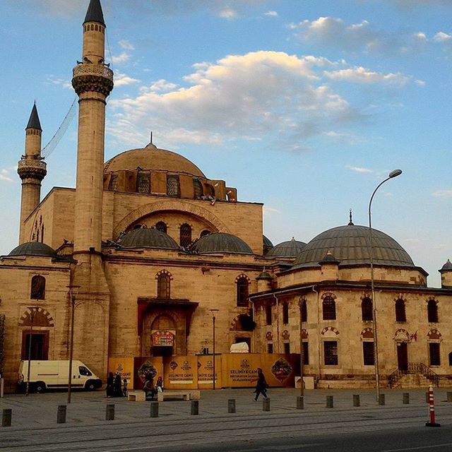
<path id="1" fill-rule="evenodd" d="M 376 265 L 415 266 L 405 249 L 384 232 L 372 229 L 372 245 Z M 350 224 L 321 232 L 297 256 L 293 268 L 318 266 L 328 251 L 340 265 L 370 263 L 369 228 Z"/>

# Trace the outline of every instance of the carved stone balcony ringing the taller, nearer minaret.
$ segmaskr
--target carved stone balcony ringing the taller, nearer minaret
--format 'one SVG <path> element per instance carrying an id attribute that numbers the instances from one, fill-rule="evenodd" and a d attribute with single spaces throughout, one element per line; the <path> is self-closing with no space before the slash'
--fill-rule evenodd
<path id="1" fill-rule="evenodd" d="M 107 96 L 113 89 L 113 71 L 103 64 L 78 64 L 73 69 L 72 86 L 78 95 L 95 91 Z"/>

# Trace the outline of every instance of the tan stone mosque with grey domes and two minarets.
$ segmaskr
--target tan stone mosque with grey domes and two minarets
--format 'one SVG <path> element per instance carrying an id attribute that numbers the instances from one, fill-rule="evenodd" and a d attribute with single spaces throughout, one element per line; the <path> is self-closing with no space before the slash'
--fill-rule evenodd
<path id="1" fill-rule="evenodd" d="M 210 179 L 182 155 L 126 150 L 104 162 L 105 20 L 90 0 L 79 97 L 76 188 L 41 199 L 47 165 L 32 107 L 25 129 L 19 245 L 0 258 L 0 373 L 20 359 L 73 356 L 105 378 L 115 357 L 300 353 L 316 387 L 452 385 L 452 263 L 441 288 L 387 234 L 348 224 L 273 246 L 263 205 Z M 374 331 L 374 305 L 378 335 Z M 71 322 L 73 321 L 73 328 Z M 374 340 L 378 350 L 374 353 Z M 30 346 L 31 340 L 31 346 Z"/>

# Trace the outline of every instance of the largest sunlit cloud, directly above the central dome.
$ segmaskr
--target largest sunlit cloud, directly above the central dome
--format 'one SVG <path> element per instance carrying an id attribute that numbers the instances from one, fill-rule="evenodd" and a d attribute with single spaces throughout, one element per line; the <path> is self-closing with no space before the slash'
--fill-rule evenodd
<path id="1" fill-rule="evenodd" d="M 109 131 L 139 144 L 153 124 L 172 145 L 285 137 L 285 148 L 330 131 L 361 115 L 321 81 L 327 59 L 258 51 L 229 55 L 214 64 L 195 64 L 186 86 L 168 81 L 143 87 L 135 98 L 111 100 L 116 119 Z"/>

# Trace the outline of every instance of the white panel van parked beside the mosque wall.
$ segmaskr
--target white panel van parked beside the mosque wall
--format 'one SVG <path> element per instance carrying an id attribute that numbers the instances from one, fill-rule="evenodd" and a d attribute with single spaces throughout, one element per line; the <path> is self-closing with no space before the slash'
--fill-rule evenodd
<path id="1" fill-rule="evenodd" d="M 28 380 L 28 361 L 20 361 L 19 384 Z M 30 361 L 30 391 L 41 393 L 47 388 L 67 388 L 69 384 L 69 360 Z M 72 388 L 94 391 L 102 386 L 102 380 L 81 361 L 72 361 Z"/>

